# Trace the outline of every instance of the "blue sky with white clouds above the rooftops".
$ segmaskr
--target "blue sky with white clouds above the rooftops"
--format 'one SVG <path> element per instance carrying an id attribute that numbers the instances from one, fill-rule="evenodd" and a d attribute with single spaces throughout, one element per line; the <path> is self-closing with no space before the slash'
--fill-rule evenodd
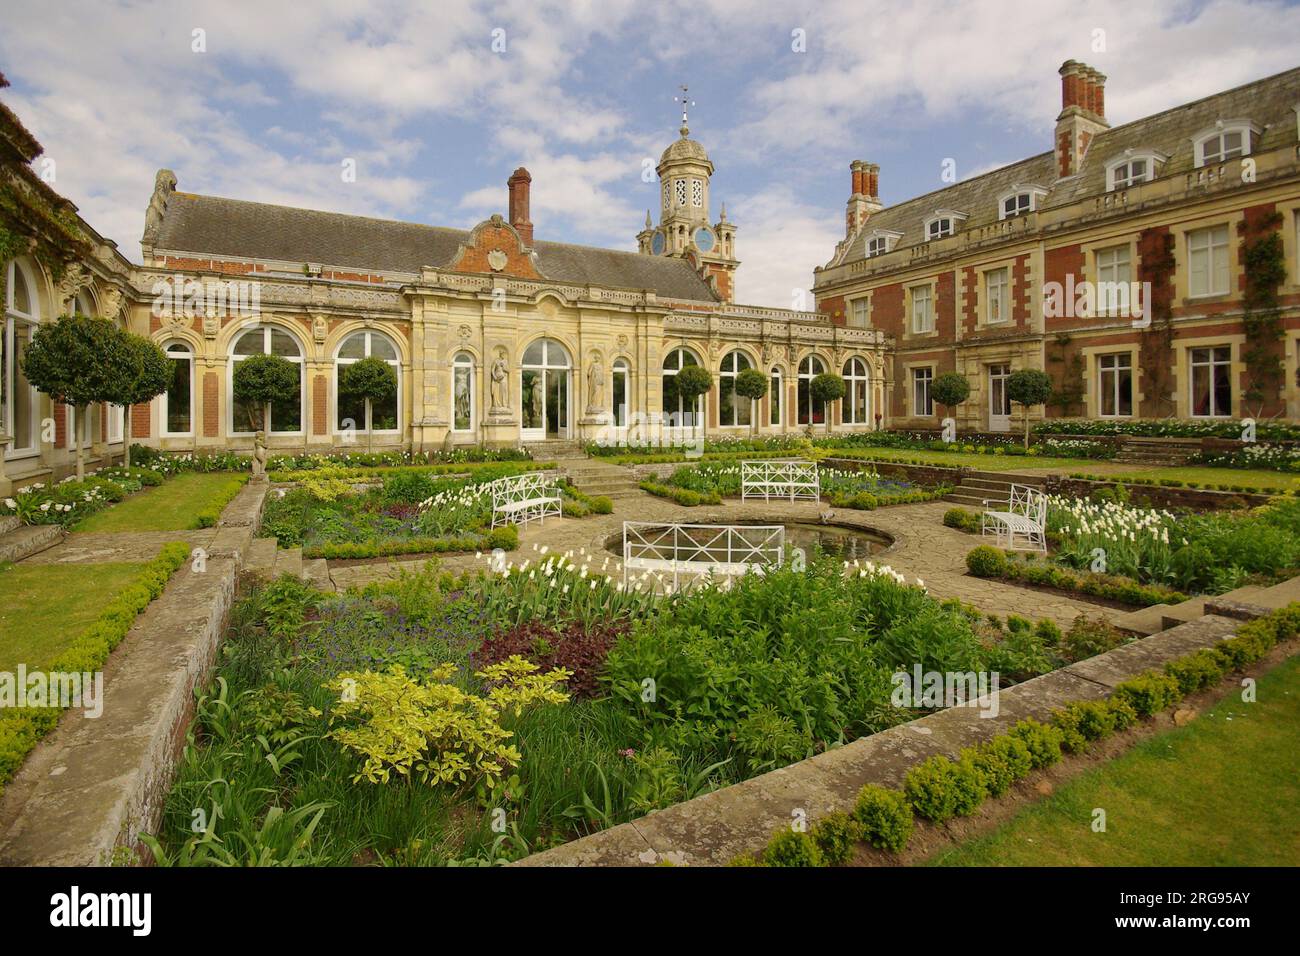
<path id="1" fill-rule="evenodd" d="M 852 160 L 901 202 L 945 160 L 966 178 L 1049 150 L 1067 59 L 1108 75 L 1118 125 L 1300 65 L 1297 36 L 1280 0 L 0 0 L 0 98 L 139 261 L 160 168 L 190 193 L 469 228 L 524 165 L 538 239 L 634 250 L 686 85 L 737 300 L 789 308 L 844 238 Z"/>

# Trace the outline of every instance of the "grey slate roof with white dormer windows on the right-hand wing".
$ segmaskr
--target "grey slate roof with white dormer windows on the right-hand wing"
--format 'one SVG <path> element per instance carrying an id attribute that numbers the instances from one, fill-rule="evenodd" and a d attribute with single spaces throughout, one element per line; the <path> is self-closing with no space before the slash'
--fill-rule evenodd
<path id="1" fill-rule="evenodd" d="M 1167 155 L 1169 160 L 1161 166 L 1157 178 L 1186 174 L 1196 164 L 1192 137 L 1212 127 L 1218 120 L 1249 120 L 1261 127 L 1264 131 L 1252 150 L 1254 153 L 1294 144 L 1294 107 L 1297 104 L 1300 68 L 1115 126 L 1093 138 L 1078 176 L 1057 181 L 1054 153 L 1044 152 L 907 199 L 872 213 L 859 234 L 833 261 L 838 264 L 862 259 L 866 255 L 866 239 L 878 229 L 902 233 L 894 248 L 923 242 L 924 221 L 936 209 L 967 213 L 968 219 L 957 224 L 958 233 L 996 222 L 998 198 L 1015 185 L 1048 189 L 1046 195 L 1037 200 L 1039 209 L 1101 195 L 1106 191 L 1106 164 L 1126 150 L 1154 150 Z"/>

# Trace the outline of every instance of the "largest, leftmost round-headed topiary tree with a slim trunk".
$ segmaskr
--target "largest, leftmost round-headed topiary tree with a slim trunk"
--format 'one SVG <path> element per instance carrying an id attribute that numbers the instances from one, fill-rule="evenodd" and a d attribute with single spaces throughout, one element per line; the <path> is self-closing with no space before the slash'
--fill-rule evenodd
<path id="1" fill-rule="evenodd" d="M 40 325 L 22 354 L 22 373 L 55 402 L 73 407 L 77 477 L 86 477 L 81 434 L 86 407 L 116 402 L 130 378 L 131 360 L 124 333 L 108 319 L 65 315 Z"/>

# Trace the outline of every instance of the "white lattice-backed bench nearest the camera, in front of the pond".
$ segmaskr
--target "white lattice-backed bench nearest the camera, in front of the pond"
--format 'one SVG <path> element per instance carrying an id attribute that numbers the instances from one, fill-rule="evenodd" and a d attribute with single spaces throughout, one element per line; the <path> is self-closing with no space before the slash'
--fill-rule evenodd
<path id="1" fill-rule="evenodd" d="M 785 561 L 781 524 L 623 523 L 623 583 L 629 571 L 737 576 Z"/>

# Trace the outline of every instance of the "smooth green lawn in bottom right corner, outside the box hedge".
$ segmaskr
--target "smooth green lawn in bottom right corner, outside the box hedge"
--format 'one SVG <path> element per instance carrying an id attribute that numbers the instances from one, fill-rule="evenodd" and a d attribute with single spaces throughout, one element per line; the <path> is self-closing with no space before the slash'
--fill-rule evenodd
<path id="1" fill-rule="evenodd" d="M 1078 777 L 945 866 L 1294 866 L 1300 860 L 1300 658 L 1186 727 Z M 1106 832 L 1091 829 L 1093 808 Z"/>

